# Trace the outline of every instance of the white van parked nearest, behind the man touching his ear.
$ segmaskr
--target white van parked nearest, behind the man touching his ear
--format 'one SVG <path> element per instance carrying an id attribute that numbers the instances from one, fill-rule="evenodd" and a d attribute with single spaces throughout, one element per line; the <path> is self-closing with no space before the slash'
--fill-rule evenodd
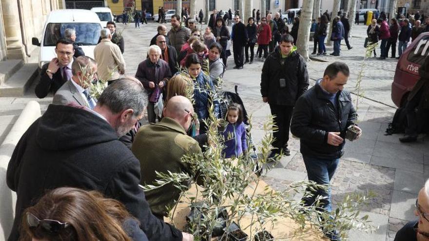
<path id="1" fill-rule="evenodd" d="M 76 30 L 76 42 L 85 55 L 94 58 L 94 48 L 102 28 L 97 14 L 83 9 L 54 10 L 46 19 L 41 41 L 37 37 L 32 38 L 33 45 L 40 46 L 39 68 L 57 57 L 57 40 L 64 37 L 64 30 L 68 28 Z"/>

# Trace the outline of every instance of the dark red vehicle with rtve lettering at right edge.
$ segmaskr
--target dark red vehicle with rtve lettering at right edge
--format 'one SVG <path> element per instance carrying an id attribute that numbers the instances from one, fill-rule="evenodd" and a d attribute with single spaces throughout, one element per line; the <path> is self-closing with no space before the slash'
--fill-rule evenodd
<path id="1" fill-rule="evenodd" d="M 420 34 L 399 58 L 393 77 L 391 98 L 398 107 L 407 103 L 407 97 L 419 76 L 419 68 L 429 55 L 429 33 Z"/>

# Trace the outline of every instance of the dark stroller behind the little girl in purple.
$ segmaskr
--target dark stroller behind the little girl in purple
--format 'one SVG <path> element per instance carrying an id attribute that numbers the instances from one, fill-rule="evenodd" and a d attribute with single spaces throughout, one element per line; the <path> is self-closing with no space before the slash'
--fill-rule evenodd
<path id="1" fill-rule="evenodd" d="M 247 111 L 246 108 L 244 107 L 244 103 L 241 100 L 241 97 L 238 95 L 238 86 L 235 85 L 234 86 L 234 91 L 233 92 L 228 92 L 228 91 L 224 91 L 221 94 L 221 100 L 220 102 L 220 109 L 221 109 L 221 116 L 220 118 L 225 119 L 226 118 L 226 114 L 228 112 L 228 106 L 232 103 L 238 104 L 241 106 L 242 110 L 243 110 L 243 123 L 246 127 L 246 135 L 247 135 L 247 139 L 249 140 L 249 146 L 253 147 L 253 153 L 249 152 L 249 156 L 252 158 L 252 160 L 254 162 L 256 162 L 256 167 L 255 167 L 255 173 L 256 174 L 260 174 L 260 172 L 262 172 L 262 168 L 259 168 L 259 166 L 257 165 L 257 153 L 256 153 L 256 148 L 254 147 L 254 142 L 253 142 L 253 138 L 252 138 L 252 133 L 250 132 L 249 129 L 249 118 L 247 117 Z"/>

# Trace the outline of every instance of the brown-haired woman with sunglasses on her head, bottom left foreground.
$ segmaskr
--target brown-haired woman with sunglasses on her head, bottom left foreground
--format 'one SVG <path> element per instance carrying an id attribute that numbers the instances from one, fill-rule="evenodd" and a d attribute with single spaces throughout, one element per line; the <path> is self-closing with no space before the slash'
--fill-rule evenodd
<path id="1" fill-rule="evenodd" d="M 24 241 L 148 241 L 123 204 L 96 191 L 60 187 L 23 213 Z"/>

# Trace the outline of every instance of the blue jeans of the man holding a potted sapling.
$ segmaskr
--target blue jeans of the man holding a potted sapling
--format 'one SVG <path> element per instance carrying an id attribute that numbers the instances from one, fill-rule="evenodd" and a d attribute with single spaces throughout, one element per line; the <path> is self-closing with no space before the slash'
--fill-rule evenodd
<path id="1" fill-rule="evenodd" d="M 304 159 L 305 168 L 307 169 L 307 176 L 310 181 L 317 184 L 330 185 L 331 179 L 335 170 L 338 166 L 340 159 L 323 159 L 313 156 L 302 156 Z M 309 188 L 307 191 L 311 192 Z M 331 187 L 328 190 L 318 189 L 316 192 L 312 192 L 314 196 L 309 198 L 303 198 L 305 205 L 313 205 L 317 196 L 327 197 L 326 199 L 320 200 L 321 207 L 326 211 L 331 212 Z"/>

